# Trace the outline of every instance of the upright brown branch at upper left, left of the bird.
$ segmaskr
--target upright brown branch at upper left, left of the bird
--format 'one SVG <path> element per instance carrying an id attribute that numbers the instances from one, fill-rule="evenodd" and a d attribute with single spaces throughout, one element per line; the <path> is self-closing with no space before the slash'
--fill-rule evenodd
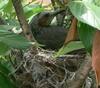
<path id="1" fill-rule="evenodd" d="M 21 4 L 21 0 L 12 0 L 12 3 L 13 3 L 13 6 L 15 8 L 20 26 L 22 27 L 22 30 L 23 30 L 25 37 L 30 41 L 35 41 L 32 33 L 31 33 L 31 30 L 29 28 L 29 25 L 26 21 L 25 14 L 24 14 L 24 11 L 23 11 L 23 7 L 22 7 L 22 4 Z"/>

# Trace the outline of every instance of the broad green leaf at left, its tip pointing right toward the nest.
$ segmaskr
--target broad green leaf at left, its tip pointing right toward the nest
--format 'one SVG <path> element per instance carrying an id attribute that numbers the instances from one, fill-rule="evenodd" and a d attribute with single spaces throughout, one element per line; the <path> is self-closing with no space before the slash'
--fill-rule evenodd
<path id="1" fill-rule="evenodd" d="M 26 49 L 31 43 L 25 39 L 25 37 L 16 34 L 4 35 L 1 41 L 7 44 L 9 47 Z"/>

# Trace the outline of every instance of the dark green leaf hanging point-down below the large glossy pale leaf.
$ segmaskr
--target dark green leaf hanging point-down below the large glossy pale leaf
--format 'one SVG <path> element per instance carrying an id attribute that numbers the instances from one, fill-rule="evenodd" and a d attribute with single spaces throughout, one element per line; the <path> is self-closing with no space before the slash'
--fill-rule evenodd
<path id="1" fill-rule="evenodd" d="M 78 25 L 78 33 L 79 38 L 83 42 L 86 50 L 91 53 L 95 29 L 87 24 L 80 22 Z"/>

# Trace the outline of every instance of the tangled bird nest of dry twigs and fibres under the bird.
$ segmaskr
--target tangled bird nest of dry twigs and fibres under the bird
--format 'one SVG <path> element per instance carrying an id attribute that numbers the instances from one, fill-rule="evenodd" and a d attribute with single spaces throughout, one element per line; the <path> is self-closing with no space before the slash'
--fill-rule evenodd
<path id="1" fill-rule="evenodd" d="M 85 71 L 77 77 L 79 70 L 84 70 L 81 66 L 85 55 L 68 54 L 53 58 L 53 54 L 53 51 L 43 49 L 28 50 L 23 54 L 17 50 L 16 80 L 21 88 L 95 88 L 92 70 L 85 79 Z"/>

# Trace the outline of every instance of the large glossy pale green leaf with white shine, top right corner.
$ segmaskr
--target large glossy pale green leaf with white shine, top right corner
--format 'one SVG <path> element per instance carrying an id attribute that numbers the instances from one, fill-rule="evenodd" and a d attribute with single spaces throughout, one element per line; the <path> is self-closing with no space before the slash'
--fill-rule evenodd
<path id="1" fill-rule="evenodd" d="M 68 6 L 79 21 L 100 29 L 100 7 L 93 0 L 75 0 Z"/>

